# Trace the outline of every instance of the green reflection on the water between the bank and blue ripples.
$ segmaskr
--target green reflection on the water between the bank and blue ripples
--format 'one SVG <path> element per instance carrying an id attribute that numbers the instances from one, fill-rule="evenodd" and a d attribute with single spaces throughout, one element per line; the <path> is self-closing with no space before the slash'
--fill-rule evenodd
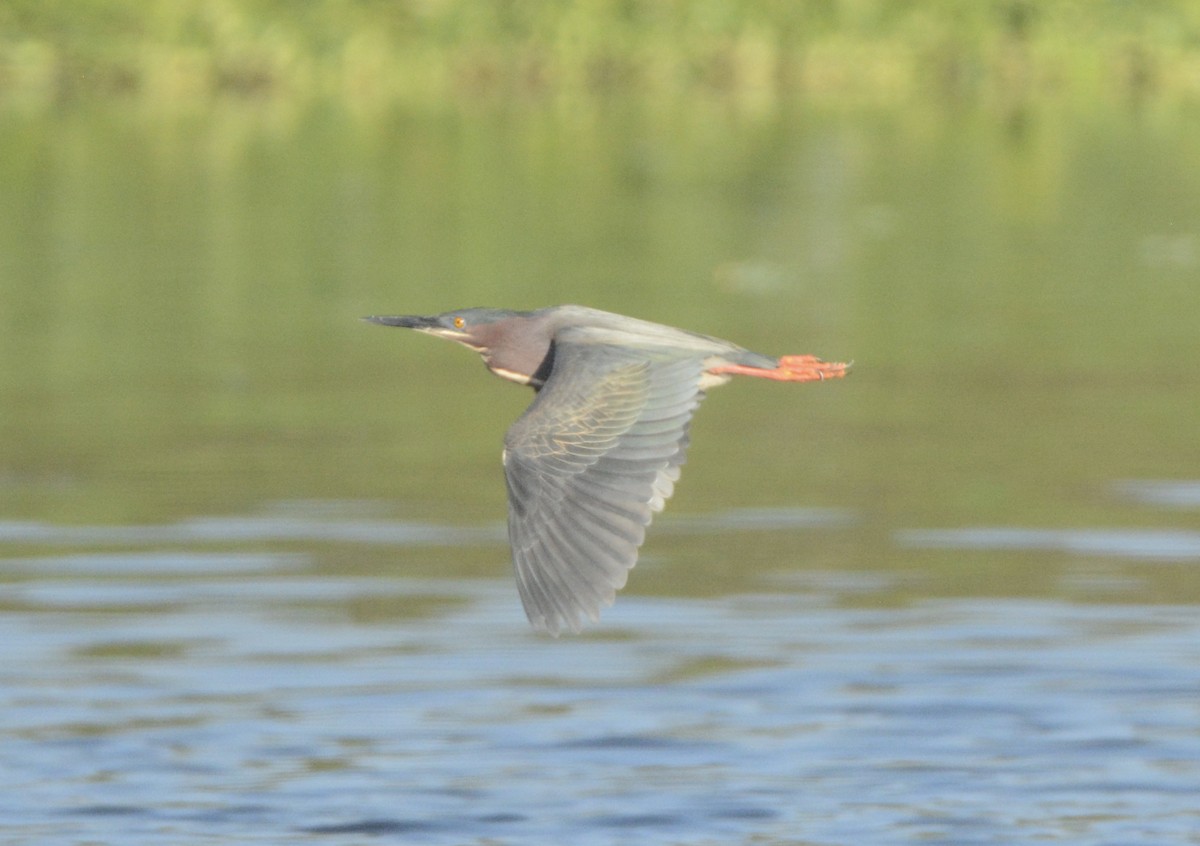
<path id="1" fill-rule="evenodd" d="M 377 502 L 497 523 L 500 438 L 529 395 L 356 318 L 576 301 L 857 361 L 844 383 L 716 392 L 671 514 L 814 505 L 858 522 L 652 533 L 640 589 L 746 589 L 782 566 L 894 569 L 918 593 L 1062 590 L 1020 556 L 965 565 L 892 533 L 1178 524 L 1112 486 L 1200 474 L 1195 130 L 1103 106 L 752 114 L 704 98 L 373 120 L 326 106 L 282 127 L 247 104 L 169 124 L 121 106 L 12 118 L 0 505 L 156 523 Z M 319 566 L 338 558 L 482 574 L 503 551 Z M 1136 580 L 1198 594 L 1177 570 Z"/>

